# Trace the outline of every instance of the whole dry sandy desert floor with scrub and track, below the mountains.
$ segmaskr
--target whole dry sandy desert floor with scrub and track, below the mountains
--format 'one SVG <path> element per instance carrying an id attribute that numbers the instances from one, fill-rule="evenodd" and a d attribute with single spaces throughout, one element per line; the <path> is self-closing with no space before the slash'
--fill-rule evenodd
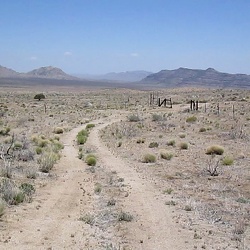
<path id="1" fill-rule="evenodd" d="M 248 90 L 2 87 L 0 249 L 250 249 L 249 139 Z"/>

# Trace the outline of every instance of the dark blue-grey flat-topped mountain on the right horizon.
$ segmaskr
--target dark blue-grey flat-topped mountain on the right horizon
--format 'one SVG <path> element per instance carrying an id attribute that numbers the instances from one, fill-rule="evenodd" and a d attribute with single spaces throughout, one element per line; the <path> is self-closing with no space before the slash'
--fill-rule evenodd
<path id="1" fill-rule="evenodd" d="M 193 85 L 216 88 L 250 88 L 250 75 L 221 73 L 213 68 L 206 70 L 179 68 L 161 70 L 145 77 L 141 83 L 157 84 L 163 87 Z"/>

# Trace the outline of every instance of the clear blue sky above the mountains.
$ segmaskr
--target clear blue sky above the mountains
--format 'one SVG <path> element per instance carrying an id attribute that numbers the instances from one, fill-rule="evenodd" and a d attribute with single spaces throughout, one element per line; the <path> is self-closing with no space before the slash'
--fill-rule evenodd
<path id="1" fill-rule="evenodd" d="M 250 74 L 250 0 L 0 0 L 0 65 Z"/>

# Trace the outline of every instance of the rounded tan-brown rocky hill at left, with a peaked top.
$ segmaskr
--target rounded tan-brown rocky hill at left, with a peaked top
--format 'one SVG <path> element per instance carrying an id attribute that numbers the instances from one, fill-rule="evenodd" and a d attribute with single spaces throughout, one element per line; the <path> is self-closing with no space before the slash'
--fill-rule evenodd
<path id="1" fill-rule="evenodd" d="M 76 77 L 71 76 L 63 72 L 61 69 L 48 66 L 41 67 L 39 69 L 34 69 L 25 74 L 28 77 L 38 77 L 38 78 L 50 78 L 50 79 L 64 79 L 64 80 L 74 80 Z"/>

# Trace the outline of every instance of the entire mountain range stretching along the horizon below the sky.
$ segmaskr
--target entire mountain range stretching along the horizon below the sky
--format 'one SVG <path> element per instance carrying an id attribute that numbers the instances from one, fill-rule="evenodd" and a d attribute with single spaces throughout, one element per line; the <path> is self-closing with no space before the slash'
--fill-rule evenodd
<path id="1" fill-rule="evenodd" d="M 82 75 L 78 75 L 81 76 Z M 48 66 L 32 70 L 28 73 L 18 73 L 12 69 L 0 66 L 0 79 L 25 79 L 31 82 L 31 79 L 54 79 L 56 84 L 60 84 L 59 80 L 63 80 L 63 84 L 71 80 L 70 85 L 76 83 L 77 85 L 86 82 L 96 81 L 98 84 L 105 85 L 119 85 L 120 83 L 129 83 L 127 86 L 148 86 L 148 87 L 183 87 L 183 86 L 197 86 L 197 87 L 212 87 L 212 88 L 250 88 L 250 75 L 246 74 L 229 74 L 222 73 L 213 68 L 206 70 L 202 69 L 188 69 L 179 68 L 175 70 L 161 70 L 158 73 L 151 73 L 147 71 L 127 71 L 121 73 L 109 73 L 106 75 L 92 76 L 85 79 L 77 78 L 63 72 L 61 69 Z M 91 80 L 86 80 L 91 79 Z M 9 82 L 10 80 L 8 80 Z M 34 80 L 35 81 L 35 80 Z M 21 83 L 20 83 L 21 84 Z M 123 84 L 123 85 L 124 85 Z M 99 86 L 99 85 L 98 85 Z"/>

